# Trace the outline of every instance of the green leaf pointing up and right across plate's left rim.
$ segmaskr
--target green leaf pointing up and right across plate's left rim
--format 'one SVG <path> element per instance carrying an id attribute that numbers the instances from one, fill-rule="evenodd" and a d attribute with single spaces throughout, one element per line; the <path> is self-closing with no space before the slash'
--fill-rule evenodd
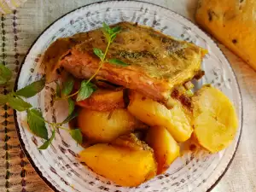
<path id="1" fill-rule="evenodd" d="M 17 90 L 16 95 L 18 96 L 24 96 L 26 98 L 35 96 L 38 94 L 41 90 L 44 89 L 45 79 L 41 79 L 38 81 L 33 82 L 32 84 L 26 85 L 26 87 Z"/>

